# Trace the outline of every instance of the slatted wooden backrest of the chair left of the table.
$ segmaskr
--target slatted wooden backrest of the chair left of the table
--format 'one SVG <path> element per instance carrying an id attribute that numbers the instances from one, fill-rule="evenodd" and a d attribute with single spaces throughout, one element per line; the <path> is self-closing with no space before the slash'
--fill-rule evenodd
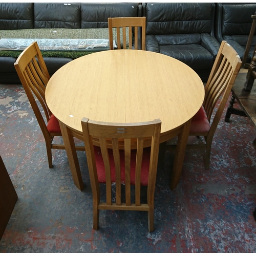
<path id="1" fill-rule="evenodd" d="M 45 90 L 50 75 L 37 42 L 32 42 L 32 44 L 19 55 L 14 63 L 14 67 L 22 82 L 42 132 L 44 134 L 45 132 L 48 133 L 46 123 L 34 98 L 35 95 L 40 102 L 48 122 L 51 116 L 51 111 L 46 104 Z"/>

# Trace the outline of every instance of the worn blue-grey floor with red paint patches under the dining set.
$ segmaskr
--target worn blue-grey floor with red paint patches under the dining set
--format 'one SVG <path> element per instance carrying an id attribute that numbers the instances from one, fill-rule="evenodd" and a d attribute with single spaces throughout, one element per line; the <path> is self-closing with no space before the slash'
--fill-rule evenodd
<path id="1" fill-rule="evenodd" d="M 85 153 L 78 152 L 86 185 L 81 192 L 65 151 L 54 151 L 48 168 L 44 137 L 22 86 L 0 85 L 0 155 L 18 195 L 0 252 L 256 252 L 256 130 L 248 118 L 231 116 L 225 123 L 223 117 L 210 169 L 204 169 L 203 150 L 186 151 L 174 191 L 174 154 L 166 152 L 154 232 L 148 232 L 146 212 L 135 211 L 101 211 L 94 231 Z"/>

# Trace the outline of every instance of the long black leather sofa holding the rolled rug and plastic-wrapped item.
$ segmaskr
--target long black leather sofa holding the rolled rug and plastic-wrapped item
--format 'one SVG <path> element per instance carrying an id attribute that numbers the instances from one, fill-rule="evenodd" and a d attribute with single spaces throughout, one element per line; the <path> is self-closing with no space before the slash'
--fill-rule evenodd
<path id="1" fill-rule="evenodd" d="M 0 35 L 3 30 L 5 33 L 13 32 L 15 37 L 15 32 L 18 33 L 20 30 L 26 34 L 33 34 L 35 30 L 41 31 L 41 29 L 48 29 L 50 32 L 52 32 L 51 29 L 60 29 L 60 32 L 64 29 L 66 33 L 74 30 L 81 33 L 84 29 L 93 28 L 108 29 L 108 17 L 120 16 L 141 16 L 141 5 L 135 3 L 0 3 Z M 106 39 L 109 39 L 108 32 Z M 13 65 L 19 54 L 20 52 L 0 52 L 0 83 L 20 83 Z M 42 52 L 50 75 L 83 54 L 88 52 Z"/>

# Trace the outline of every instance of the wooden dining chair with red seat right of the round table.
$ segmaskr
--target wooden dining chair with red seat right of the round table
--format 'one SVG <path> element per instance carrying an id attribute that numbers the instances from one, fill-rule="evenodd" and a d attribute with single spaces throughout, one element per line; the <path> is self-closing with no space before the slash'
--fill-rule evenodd
<path id="1" fill-rule="evenodd" d="M 205 86 L 205 97 L 200 110 L 191 120 L 189 136 L 204 136 L 206 144 L 205 168 L 209 168 L 211 143 L 220 121 L 225 104 L 229 97 L 233 83 L 241 66 L 241 59 L 237 52 L 226 42 L 222 41 L 218 55 L 212 67 Z M 217 101 L 222 96 L 219 104 Z M 212 118 L 214 109 L 217 111 Z M 187 145 L 197 147 L 202 144 Z"/>

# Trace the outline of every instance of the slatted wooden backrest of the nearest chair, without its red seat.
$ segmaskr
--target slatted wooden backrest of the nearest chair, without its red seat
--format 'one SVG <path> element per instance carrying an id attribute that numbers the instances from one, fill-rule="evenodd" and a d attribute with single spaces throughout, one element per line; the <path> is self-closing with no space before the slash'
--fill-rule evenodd
<path id="1" fill-rule="evenodd" d="M 151 122 L 142 123 L 108 123 L 92 121 L 83 118 L 82 131 L 84 144 L 86 147 L 88 168 L 92 185 L 93 200 L 97 199 L 99 204 L 100 192 L 97 175 L 97 167 L 94 155 L 94 146 L 92 138 L 99 138 L 100 151 L 103 158 L 105 169 L 106 183 L 106 206 L 113 206 L 114 209 L 133 209 L 139 210 L 140 207 L 148 207 L 140 203 L 140 186 L 141 186 L 141 165 L 143 156 L 143 140 L 151 137 L 150 164 L 148 170 L 147 184 L 147 205 L 154 206 L 154 193 L 157 174 L 157 160 L 159 151 L 159 138 L 161 130 L 161 121 L 156 119 Z M 124 169 L 125 169 L 125 204 L 121 203 L 121 168 L 119 141 L 124 141 Z M 112 141 L 112 150 L 108 150 L 107 144 Z M 136 141 L 136 166 L 135 166 L 135 204 L 131 203 L 131 142 Z M 110 152 L 113 156 L 110 156 Z M 116 203 L 112 203 L 111 190 L 111 164 L 110 158 L 114 158 L 115 182 L 116 182 Z M 117 207 L 117 208 L 115 208 Z M 142 209 L 143 210 L 143 209 Z"/>

